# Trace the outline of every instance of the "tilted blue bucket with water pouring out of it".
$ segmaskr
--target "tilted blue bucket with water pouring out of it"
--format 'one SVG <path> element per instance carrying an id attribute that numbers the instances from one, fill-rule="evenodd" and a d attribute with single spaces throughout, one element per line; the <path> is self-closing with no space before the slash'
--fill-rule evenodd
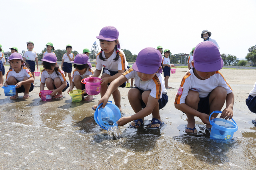
<path id="1" fill-rule="evenodd" d="M 112 103 L 112 101 L 108 101 L 104 109 L 100 107 L 103 103 L 98 105 L 95 113 L 94 113 L 94 120 L 101 128 L 108 130 L 111 127 L 118 126 L 116 121 L 121 118 L 121 113 L 119 108 Z M 100 108 L 100 109 L 99 109 Z"/>

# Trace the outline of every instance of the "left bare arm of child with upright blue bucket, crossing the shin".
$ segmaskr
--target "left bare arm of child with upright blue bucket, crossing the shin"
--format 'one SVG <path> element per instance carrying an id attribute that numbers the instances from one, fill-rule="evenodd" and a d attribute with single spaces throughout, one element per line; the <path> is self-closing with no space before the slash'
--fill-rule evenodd
<path id="1" fill-rule="evenodd" d="M 184 112 L 184 113 L 188 113 L 190 115 L 194 115 L 196 117 L 199 117 L 203 123 L 210 125 L 209 122 L 209 115 L 205 114 L 205 113 L 201 113 L 191 107 L 189 107 L 188 105 L 186 105 L 185 103 L 181 103 L 181 104 L 174 104 L 175 108 Z M 212 118 L 211 118 L 212 119 Z"/>

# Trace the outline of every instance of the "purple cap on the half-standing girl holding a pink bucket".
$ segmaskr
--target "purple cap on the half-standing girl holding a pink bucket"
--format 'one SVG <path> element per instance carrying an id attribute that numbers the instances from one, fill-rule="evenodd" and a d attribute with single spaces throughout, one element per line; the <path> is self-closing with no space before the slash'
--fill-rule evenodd
<path id="1" fill-rule="evenodd" d="M 113 26 L 106 26 L 100 30 L 100 35 L 96 38 L 100 40 L 106 40 L 109 42 L 118 40 L 119 32 L 118 30 Z M 118 48 L 120 47 L 120 43 L 118 42 Z"/>

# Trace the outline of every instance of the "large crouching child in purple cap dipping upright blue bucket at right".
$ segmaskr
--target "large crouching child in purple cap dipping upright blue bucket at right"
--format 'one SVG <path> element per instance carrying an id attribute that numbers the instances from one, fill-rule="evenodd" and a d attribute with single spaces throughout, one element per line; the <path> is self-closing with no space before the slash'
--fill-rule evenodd
<path id="1" fill-rule="evenodd" d="M 194 68 L 184 75 L 180 84 L 182 91 L 176 94 L 174 106 L 188 117 L 185 132 L 197 133 L 194 116 L 199 117 L 210 132 L 212 126 L 209 122 L 209 114 L 220 111 L 225 101 L 226 108 L 220 118 L 233 117 L 234 94 L 219 72 L 223 67 L 223 61 L 214 43 L 208 41 L 199 43 L 193 57 Z M 211 119 L 217 116 L 218 114 L 214 113 Z"/>

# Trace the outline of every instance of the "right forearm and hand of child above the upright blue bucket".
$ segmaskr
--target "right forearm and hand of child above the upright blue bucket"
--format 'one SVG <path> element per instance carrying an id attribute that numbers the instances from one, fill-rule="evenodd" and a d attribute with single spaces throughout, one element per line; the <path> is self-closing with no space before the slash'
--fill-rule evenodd
<path id="1" fill-rule="evenodd" d="M 233 117 L 233 106 L 234 106 L 234 93 L 231 92 L 227 94 L 226 97 L 226 108 L 222 111 L 220 118 L 222 119 L 231 119 Z"/>

